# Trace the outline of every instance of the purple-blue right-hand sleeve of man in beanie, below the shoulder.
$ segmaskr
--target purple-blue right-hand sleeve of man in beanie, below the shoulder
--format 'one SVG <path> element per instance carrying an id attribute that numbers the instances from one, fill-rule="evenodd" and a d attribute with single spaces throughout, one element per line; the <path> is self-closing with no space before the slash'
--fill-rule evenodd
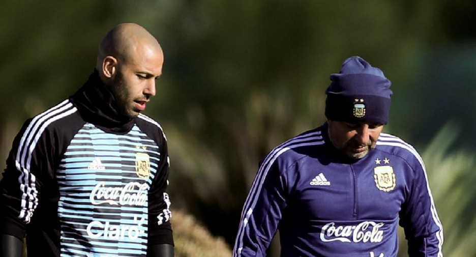
<path id="1" fill-rule="evenodd" d="M 408 256 L 442 257 L 442 225 L 436 213 L 421 157 L 412 166 L 407 199 L 400 211 L 400 225 L 408 241 Z"/>

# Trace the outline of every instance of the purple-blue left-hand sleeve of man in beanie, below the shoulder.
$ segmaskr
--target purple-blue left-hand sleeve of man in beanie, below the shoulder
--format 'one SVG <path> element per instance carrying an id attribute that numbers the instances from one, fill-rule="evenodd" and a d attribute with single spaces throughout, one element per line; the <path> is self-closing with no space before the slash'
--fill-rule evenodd
<path id="1" fill-rule="evenodd" d="M 233 257 L 266 255 L 286 207 L 286 192 L 278 162 L 265 159 L 243 207 Z"/>

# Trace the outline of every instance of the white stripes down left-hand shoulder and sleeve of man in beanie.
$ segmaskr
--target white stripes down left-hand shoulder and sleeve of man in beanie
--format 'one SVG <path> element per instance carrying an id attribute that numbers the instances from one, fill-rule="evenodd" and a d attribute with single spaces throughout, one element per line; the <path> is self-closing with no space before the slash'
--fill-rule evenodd
<path id="1" fill-rule="evenodd" d="M 275 160 L 290 149 L 295 149 L 299 147 L 309 147 L 309 146 L 316 146 L 324 144 L 324 140 L 321 136 L 320 131 L 314 132 L 307 132 L 296 136 L 283 144 L 279 145 L 278 147 L 274 148 L 264 159 L 263 163 L 258 169 L 258 173 L 253 181 L 253 184 L 250 189 L 250 193 L 246 198 L 245 205 L 243 207 L 243 211 L 241 214 L 241 221 L 240 226 L 238 229 L 238 234 L 235 240 L 235 246 L 232 252 L 233 257 L 237 257 L 241 255 L 241 251 L 243 249 L 243 238 L 247 233 L 247 226 L 251 219 L 253 219 L 253 209 L 256 206 L 256 202 L 258 201 L 259 195 L 262 191 L 262 185 L 266 176 L 275 162 Z"/>

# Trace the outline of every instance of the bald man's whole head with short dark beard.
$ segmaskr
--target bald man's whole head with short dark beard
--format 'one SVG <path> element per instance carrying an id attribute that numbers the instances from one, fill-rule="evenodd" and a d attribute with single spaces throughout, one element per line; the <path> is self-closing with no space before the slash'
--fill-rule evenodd
<path id="1" fill-rule="evenodd" d="M 99 46 L 96 69 L 114 96 L 117 110 L 136 117 L 156 94 L 164 54 L 159 42 L 145 28 L 122 23 L 109 31 Z"/>

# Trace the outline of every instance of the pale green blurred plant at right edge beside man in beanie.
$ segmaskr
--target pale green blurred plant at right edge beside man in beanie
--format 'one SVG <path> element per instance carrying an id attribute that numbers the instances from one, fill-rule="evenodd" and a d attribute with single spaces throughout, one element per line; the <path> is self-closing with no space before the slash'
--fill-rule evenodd
<path id="1" fill-rule="evenodd" d="M 474 151 L 451 150 L 458 132 L 453 124 L 446 124 L 422 155 L 444 226 L 447 257 L 476 256 L 476 158 Z"/>

